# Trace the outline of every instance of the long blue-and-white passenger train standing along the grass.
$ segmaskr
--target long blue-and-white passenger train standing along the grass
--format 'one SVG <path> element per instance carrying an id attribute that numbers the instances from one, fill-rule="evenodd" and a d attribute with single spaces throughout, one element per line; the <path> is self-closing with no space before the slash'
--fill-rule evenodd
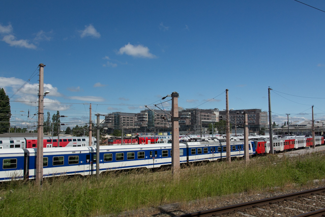
<path id="1" fill-rule="evenodd" d="M 244 156 L 243 141 L 231 141 L 231 157 Z M 100 173 L 110 170 L 133 168 L 160 168 L 171 165 L 171 143 L 146 145 L 55 147 L 43 150 L 43 175 L 94 175 L 96 160 Z M 254 155 L 253 142 L 249 142 L 249 154 Z M 35 179 L 37 148 L 0 150 L 0 181 Z M 180 163 L 213 161 L 226 157 L 226 141 L 202 141 L 180 143 Z"/>

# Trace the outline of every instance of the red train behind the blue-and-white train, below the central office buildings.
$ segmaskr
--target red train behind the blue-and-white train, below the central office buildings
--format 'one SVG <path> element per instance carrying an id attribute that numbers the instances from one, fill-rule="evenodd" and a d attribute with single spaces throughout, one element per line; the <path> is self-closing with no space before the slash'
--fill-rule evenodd
<path id="1" fill-rule="evenodd" d="M 123 145 L 144 145 L 144 144 L 159 144 L 168 143 L 171 140 L 171 135 L 136 135 L 135 137 L 125 137 Z M 108 145 L 122 145 L 121 137 L 114 137 L 108 139 Z"/>

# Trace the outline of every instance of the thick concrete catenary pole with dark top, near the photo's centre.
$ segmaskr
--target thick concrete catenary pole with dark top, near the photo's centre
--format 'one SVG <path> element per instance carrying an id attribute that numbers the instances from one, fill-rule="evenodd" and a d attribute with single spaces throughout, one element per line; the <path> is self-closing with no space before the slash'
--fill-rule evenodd
<path id="1" fill-rule="evenodd" d="M 172 174 L 178 174 L 180 170 L 180 129 L 179 129 L 179 94 L 171 93 L 171 165 Z"/>

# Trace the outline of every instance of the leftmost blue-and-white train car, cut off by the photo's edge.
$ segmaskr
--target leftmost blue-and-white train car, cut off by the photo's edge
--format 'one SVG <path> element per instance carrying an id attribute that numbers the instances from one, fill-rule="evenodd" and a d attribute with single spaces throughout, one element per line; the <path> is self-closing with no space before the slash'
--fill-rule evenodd
<path id="1" fill-rule="evenodd" d="M 2 149 L 0 152 L 0 181 L 23 179 L 24 162 L 23 149 Z"/>

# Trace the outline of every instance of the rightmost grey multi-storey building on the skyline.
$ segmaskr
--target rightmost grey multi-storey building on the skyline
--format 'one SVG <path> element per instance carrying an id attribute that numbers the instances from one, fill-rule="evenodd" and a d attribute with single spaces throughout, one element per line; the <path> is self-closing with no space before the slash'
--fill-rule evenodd
<path id="1" fill-rule="evenodd" d="M 260 109 L 254 108 L 248 110 L 230 110 L 229 121 L 233 129 L 235 128 L 235 126 L 237 126 L 237 128 L 244 127 L 244 111 L 248 113 L 247 116 L 249 132 L 259 132 L 261 128 L 267 128 L 268 113 L 262 112 Z M 219 112 L 219 119 L 226 120 L 226 111 Z"/>

